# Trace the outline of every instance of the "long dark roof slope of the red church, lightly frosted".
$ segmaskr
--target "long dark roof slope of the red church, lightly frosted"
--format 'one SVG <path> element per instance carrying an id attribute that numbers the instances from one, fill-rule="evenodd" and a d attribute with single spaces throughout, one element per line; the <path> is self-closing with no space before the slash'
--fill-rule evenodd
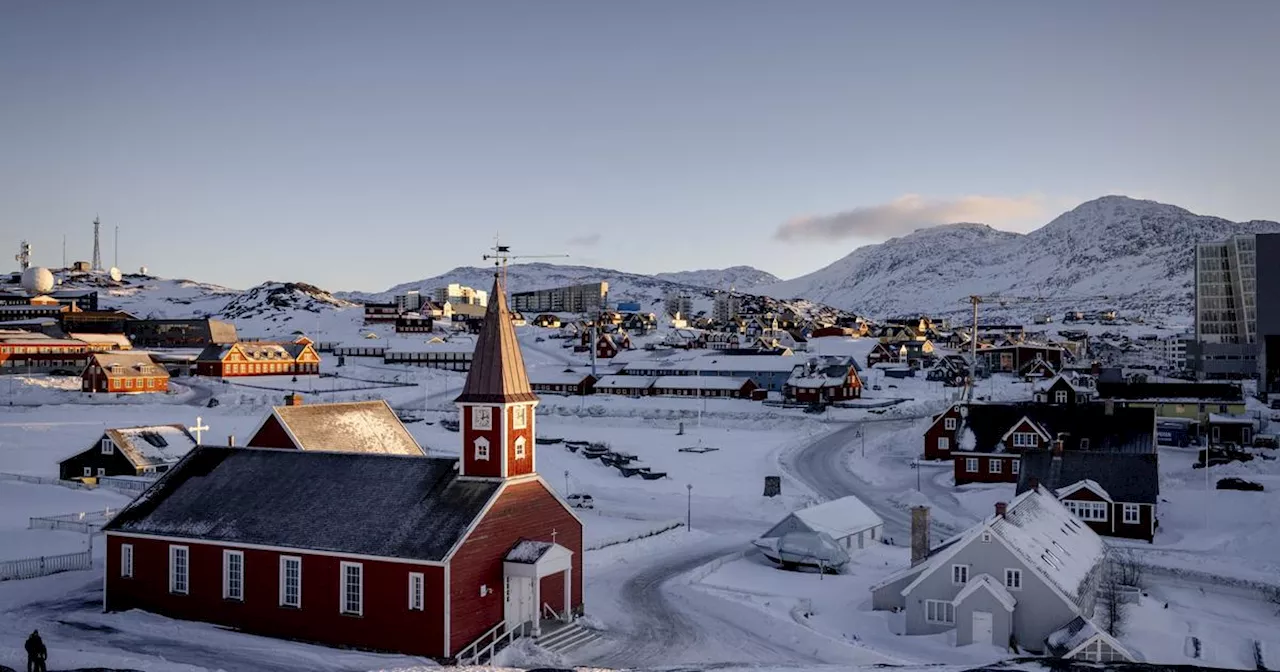
<path id="1" fill-rule="evenodd" d="M 500 485 L 456 463 L 201 445 L 104 529 L 442 561 Z"/>

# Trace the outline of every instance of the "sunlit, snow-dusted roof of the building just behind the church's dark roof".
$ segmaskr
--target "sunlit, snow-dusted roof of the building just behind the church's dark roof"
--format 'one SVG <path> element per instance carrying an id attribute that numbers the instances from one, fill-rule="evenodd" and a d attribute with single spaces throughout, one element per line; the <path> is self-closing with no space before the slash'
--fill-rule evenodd
<path id="1" fill-rule="evenodd" d="M 303 451 L 426 454 L 385 401 L 278 406 L 273 412 Z"/>

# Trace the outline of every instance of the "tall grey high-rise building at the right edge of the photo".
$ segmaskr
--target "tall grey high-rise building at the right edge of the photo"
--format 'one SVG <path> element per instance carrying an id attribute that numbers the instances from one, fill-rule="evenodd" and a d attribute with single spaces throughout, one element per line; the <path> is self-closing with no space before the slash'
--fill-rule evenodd
<path id="1" fill-rule="evenodd" d="M 1265 333 L 1280 335 L 1280 234 L 1238 234 L 1196 246 L 1196 342 L 1188 360 L 1202 378 L 1267 380 Z"/>

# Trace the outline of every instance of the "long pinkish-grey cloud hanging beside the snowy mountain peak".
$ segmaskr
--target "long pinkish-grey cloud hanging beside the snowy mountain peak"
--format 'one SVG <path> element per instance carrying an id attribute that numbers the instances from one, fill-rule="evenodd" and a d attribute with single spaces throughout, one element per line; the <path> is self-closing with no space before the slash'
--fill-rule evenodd
<path id="1" fill-rule="evenodd" d="M 870 205 L 831 215 L 803 215 L 778 227 L 778 241 L 840 241 L 844 238 L 891 238 L 938 224 L 972 221 L 979 224 L 1023 224 L 1043 216 L 1039 196 L 1005 198 L 1000 196 L 963 196 L 960 198 L 925 198 L 916 193 L 900 196 L 887 204 Z"/>

